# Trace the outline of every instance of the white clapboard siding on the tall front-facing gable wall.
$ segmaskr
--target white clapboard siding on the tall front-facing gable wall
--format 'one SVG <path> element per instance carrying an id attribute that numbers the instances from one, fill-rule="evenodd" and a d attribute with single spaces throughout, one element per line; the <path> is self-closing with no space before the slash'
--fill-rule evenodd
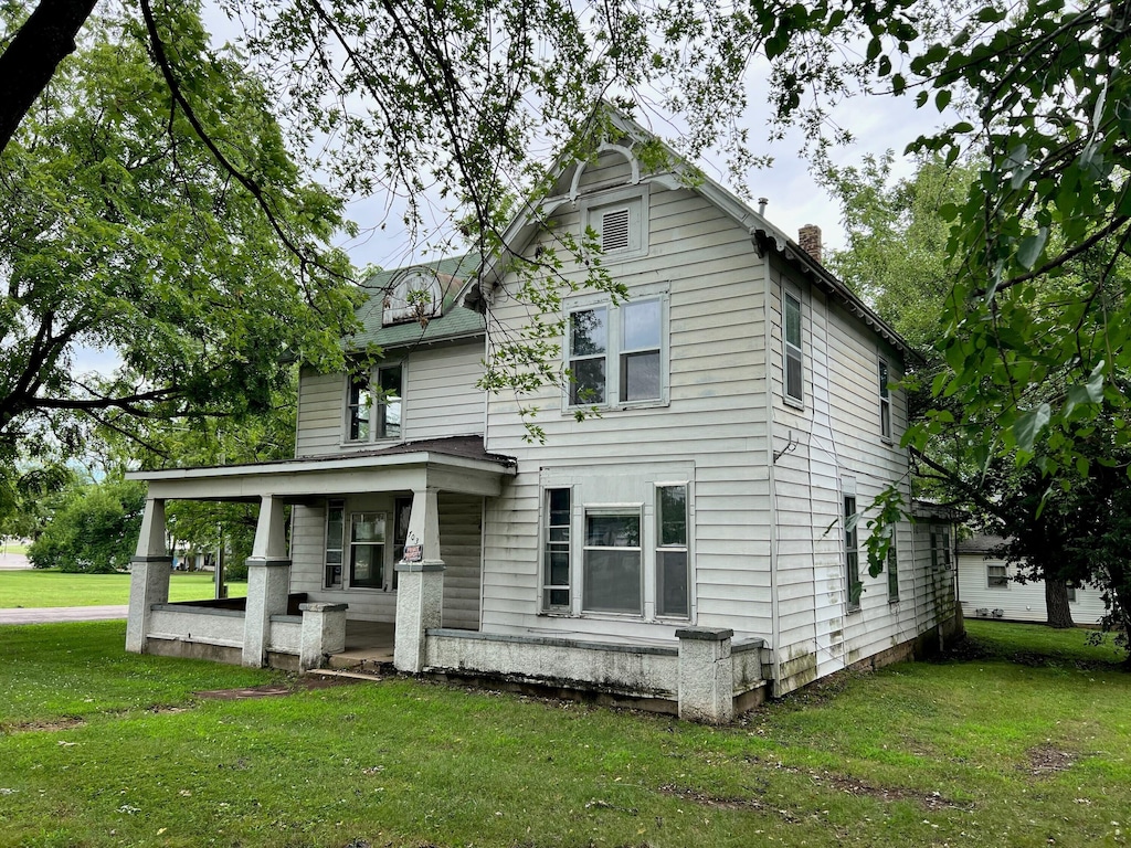
<path id="1" fill-rule="evenodd" d="M 603 180 L 614 175 L 607 170 Z M 608 409 L 578 423 L 563 414 L 560 390 L 545 390 L 529 399 L 541 407 L 536 423 L 546 433 L 544 444 L 532 447 L 513 400 L 489 399 L 487 447 L 517 457 L 519 475 L 487 508 L 484 629 L 670 638 L 675 625 L 668 623 L 541 615 L 537 523 L 541 469 L 616 474 L 668 461 L 694 468 L 696 623 L 769 633 L 763 263 L 749 232 L 699 194 L 653 185 L 648 196 L 648 254 L 613 259 L 608 268 L 630 300 L 634 286 L 666 286 L 668 403 Z M 563 216 L 562 226 L 571 224 Z M 521 314 L 512 301 L 495 304 L 503 322 Z M 647 491 L 638 500 L 651 509 Z"/>

